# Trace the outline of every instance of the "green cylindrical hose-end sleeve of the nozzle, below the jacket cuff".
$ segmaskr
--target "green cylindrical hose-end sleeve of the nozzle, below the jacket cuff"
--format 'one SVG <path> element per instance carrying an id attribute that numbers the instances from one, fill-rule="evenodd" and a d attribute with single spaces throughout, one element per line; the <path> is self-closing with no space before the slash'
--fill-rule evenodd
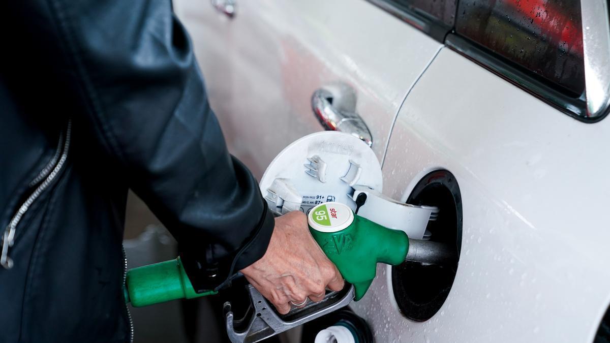
<path id="1" fill-rule="evenodd" d="M 217 292 L 195 292 L 179 257 L 130 269 L 125 278 L 125 302 L 131 302 L 134 307 L 212 294 Z"/>

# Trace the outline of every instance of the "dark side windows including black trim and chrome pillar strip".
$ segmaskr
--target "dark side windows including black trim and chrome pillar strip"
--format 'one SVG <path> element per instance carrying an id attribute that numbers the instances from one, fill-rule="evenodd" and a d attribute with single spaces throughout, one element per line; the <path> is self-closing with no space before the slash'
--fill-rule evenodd
<path id="1" fill-rule="evenodd" d="M 606 1 L 367 1 L 567 115 L 610 113 Z"/>

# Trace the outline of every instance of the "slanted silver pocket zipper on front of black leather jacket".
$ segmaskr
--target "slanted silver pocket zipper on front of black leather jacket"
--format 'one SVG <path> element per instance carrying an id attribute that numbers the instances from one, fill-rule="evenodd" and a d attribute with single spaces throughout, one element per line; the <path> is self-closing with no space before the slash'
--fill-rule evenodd
<path id="1" fill-rule="evenodd" d="M 9 225 L 7 225 L 4 230 L 4 234 L 2 235 L 2 251 L 0 253 L 0 265 L 2 265 L 4 269 L 11 269 L 13 267 L 13 259 L 9 257 L 9 248 L 15 244 L 15 233 L 21 218 L 23 218 L 27 210 L 30 209 L 34 201 L 36 201 L 40 195 L 45 192 L 49 186 L 51 186 L 52 182 L 56 179 L 57 175 L 59 175 L 59 172 L 65 165 L 66 159 L 68 159 L 71 129 L 72 121 L 68 120 L 65 139 L 63 138 L 63 134 L 59 135 L 59 143 L 57 144 L 56 153 L 51 158 L 51 161 L 45 165 L 45 168 L 38 173 L 38 176 L 36 176 L 36 178 L 29 183 L 29 186 L 34 187 L 40 181 L 42 181 L 42 183 L 39 184 L 36 189 L 34 189 L 34 192 L 27 197 L 26 201 L 19 206 L 18 211 L 15 213 L 15 215 L 13 215 Z"/>

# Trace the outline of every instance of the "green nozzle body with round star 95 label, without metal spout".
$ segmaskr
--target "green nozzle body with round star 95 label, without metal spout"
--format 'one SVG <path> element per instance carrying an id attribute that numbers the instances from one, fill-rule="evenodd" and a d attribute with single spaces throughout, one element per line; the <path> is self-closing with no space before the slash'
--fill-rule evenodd
<path id="1" fill-rule="evenodd" d="M 379 262 L 398 265 L 409 251 L 409 237 L 367 218 L 354 215 L 342 203 L 323 203 L 307 215 L 309 229 L 322 251 L 354 285 L 360 300 L 375 278 Z"/>

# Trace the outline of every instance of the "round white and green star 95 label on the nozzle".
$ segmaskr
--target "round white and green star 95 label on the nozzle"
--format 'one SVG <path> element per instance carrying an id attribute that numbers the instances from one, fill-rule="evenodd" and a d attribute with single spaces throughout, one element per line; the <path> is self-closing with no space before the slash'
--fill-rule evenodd
<path id="1" fill-rule="evenodd" d="M 342 203 L 323 203 L 309 211 L 307 221 L 309 226 L 317 231 L 334 233 L 350 226 L 354 221 L 354 214 Z"/>

